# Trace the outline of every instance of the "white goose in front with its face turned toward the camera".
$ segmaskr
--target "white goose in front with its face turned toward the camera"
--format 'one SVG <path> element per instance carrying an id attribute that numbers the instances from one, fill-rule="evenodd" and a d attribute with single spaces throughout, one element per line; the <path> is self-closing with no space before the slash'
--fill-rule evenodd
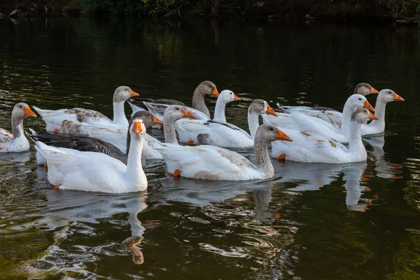
<path id="1" fill-rule="evenodd" d="M 127 165 L 103 153 L 78 152 L 55 148 L 36 141 L 48 163 L 48 181 L 55 188 L 102 193 L 132 193 L 147 189 L 148 181 L 141 167 L 146 128 L 141 119 L 130 125 L 130 152 Z"/>

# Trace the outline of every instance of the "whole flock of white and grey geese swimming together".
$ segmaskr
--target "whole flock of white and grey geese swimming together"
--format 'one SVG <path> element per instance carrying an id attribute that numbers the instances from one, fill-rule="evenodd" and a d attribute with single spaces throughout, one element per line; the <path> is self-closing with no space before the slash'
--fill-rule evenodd
<path id="1" fill-rule="evenodd" d="M 368 94 L 378 94 L 375 108 L 367 102 Z M 213 118 L 204 103 L 206 96 L 217 97 Z M 248 107 L 249 133 L 226 121 L 226 105 L 237 100 L 231 90 L 219 94 L 208 80 L 195 88 L 191 107 L 172 99 L 140 98 L 130 87 L 120 86 L 113 94 L 112 120 L 92 109 L 33 106 L 45 121 L 42 132 L 24 132 L 23 119 L 36 114 L 27 104 L 18 103 L 12 111 L 12 132 L 0 129 L 0 152 L 28 150 L 28 136 L 34 141 L 36 162 L 45 165 L 48 181 L 59 189 L 146 190 L 147 160 L 165 160 L 167 172 L 174 177 L 269 179 L 274 176 L 271 158 L 332 164 L 365 161 L 362 138 L 383 133 L 386 104 L 404 99 L 393 90 L 378 92 L 367 83 L 356 86 L 342 112 L 281 104 L 274 110 L 264 100 L 254 99 Z M 124 111 L 126 101 L 133 111 L 130 122 Z M 146 133 L 153 128 L 163 128 L 165 142 Z M 255 164 L 228 150 L 247 147 L 254 148 Z"/>

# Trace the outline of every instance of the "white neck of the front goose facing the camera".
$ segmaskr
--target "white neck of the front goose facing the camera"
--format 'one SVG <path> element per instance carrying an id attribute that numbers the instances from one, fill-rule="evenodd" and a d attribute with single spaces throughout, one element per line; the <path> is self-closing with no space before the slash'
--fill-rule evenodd
<path id="1" fill-rule="evenodd" d="M 127 172 L 125 179 L 130 186 L 136 186 L 139 190 L 146 190 L 147 178 L 141 167 L 141 153 L 143 151 L 144 135 L 132 134 L 130 152 L 128 153 Z"/>

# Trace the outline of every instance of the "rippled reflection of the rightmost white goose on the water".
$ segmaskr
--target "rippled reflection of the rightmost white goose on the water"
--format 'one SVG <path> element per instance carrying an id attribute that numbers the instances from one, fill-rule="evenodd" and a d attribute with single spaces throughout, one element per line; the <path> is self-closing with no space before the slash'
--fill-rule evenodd
<path id="1" fill-rule="evenodd" d="M 401 165 L 391 164 L 386 160 L 384 157 L 384 144 L 385 138 L 384 135 L 377 136 L 377 137 L 368 137 L 363 139 L 366 141 L 370 146 L 372 146 L 373 151 L 368 151 L 370 157 L 372 157 L 372 161 L 374 162 L 375 168 L 374 170 L 377 172 L 377 176 L 384 179 L 400 179 L 400 169 Z"/>

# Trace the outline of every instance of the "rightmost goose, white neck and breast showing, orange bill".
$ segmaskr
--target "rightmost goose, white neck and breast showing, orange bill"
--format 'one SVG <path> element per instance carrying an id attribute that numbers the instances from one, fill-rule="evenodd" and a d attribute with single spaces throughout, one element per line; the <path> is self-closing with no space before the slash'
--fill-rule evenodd
<path id="1" fill-rule="evenodd" d="M 362 125 L 362 136 L 381 134 L 385 131 L 385 106 L 393 101 L 404 101 L 404 99 L 393 90 L 385 89 L 379 92 L 377 103 L 374 107 L 374 112 L 378 119 Z"/>

